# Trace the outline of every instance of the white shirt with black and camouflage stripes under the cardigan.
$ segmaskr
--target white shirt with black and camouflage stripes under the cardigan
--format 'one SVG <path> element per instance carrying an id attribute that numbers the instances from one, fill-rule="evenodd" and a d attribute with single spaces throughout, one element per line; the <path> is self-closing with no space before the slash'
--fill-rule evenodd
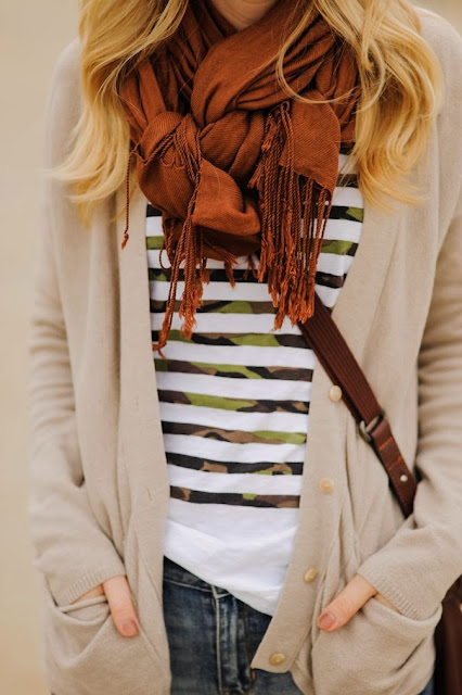
<path id="1" fill-rule="evenodd" d="M 354 260 L 363 200 L 341 150 L 316 290 L 332 311 Z M 344 166 L 346 164 L 346 166 Z M 169 270 L 161 267 L 162 216 L 146 201 L 152 340 L 165 316 Z M 168 265 L 164 254 L 163 265 Z M 254 255 L 258 267 L 258 254 Z M 166 358 L 154 355 L 170 481 L 165 555 L 204 581 L 273 615 L 298 519 L 317 358 L 297 325 L 273 329 L 267 283 L 208 260 L 191 340 L 180 334 L 179 301 Z M 177 299 L 183 290 L 180 277 Z M 309 465 L 309 463 L 308 463 Z"/>

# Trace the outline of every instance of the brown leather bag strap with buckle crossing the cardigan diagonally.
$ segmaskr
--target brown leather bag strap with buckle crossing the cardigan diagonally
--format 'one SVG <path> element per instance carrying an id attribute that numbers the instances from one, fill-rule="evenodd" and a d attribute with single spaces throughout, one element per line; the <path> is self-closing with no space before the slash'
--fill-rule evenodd
<path id="1" fill-rule="evenodd" d="M 342 389 L 342 397 L 358 422 L 361 437 L 374 450 L 388 473 L 402 513 L 409 516 L 413 509 L 416 480 L 402 458 L 364 372 L 318 293 L 315 314 L 305 323 L 298 321 L 298 326 L 332 381 Z"/>

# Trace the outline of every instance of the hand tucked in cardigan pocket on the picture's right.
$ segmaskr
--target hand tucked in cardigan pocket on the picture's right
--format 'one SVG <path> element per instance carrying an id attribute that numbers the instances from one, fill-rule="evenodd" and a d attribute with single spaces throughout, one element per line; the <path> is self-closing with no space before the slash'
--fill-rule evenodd
<path id="1" fill-rule="evenodd" d="M 372 596 L 388 606 L 388 608 L 392 608 L 392 610 L 399 612 L 398 608 L 385 598 L 385 596 L 382 596 L 375 586 L 368 582 L 367 579 L 361 577 L 361 574 L 355 574 L 345 589 L 331 601 L 319 616 L 318 627 L 325 632 L 338 630 L 338 628 L 346 624 Z"/>

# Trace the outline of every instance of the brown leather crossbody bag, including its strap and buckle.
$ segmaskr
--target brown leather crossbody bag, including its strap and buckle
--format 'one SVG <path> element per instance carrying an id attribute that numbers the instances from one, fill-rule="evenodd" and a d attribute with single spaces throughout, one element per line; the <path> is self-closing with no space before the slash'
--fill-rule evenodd
<path id="1" fill-rule="evenodd" d="M 315 314 L 298 326 L 308 346 L 342 390 L 361 437 L 372 446 L 389 477 L 389 484 L 405 517 L 412 514 L 418 481 L 393 437 L 384 410 L 357 363 L 329 308 L 318 294 Z M 462 577 L 442 601 L 442 615 L 435 630 L 435 695 L 462 695 Z"/>

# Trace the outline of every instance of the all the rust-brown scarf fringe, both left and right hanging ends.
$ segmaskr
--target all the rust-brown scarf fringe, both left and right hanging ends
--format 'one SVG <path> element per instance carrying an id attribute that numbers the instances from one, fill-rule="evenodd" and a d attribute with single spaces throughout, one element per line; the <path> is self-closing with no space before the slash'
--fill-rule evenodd
<path id="1" fill-rule="evenodd" d="M 170 228 L 176 220 L 163 218 L 164 242 L 161 254 L 166 250 L 170 261 L 170 287 L 159 338 L 152 345 L 163 357 L 165 355 L 162 348 L 167 343 L 174 317 L 180 264 L 184 261 L 184 291 L 178 315 L 184 318 L 180 331 L 188 339 L 192 337 L 196 326 L 195 313 L 202 305 L 203 282 L 209 281 L 207 257 L 203 252 L 203 230 L 192 222 L 201 180 L 200 141 L 197 137 L 195 159 L 188 147 L 182 124 L 175 134 L 175 148 L 194 182 L 194 191 L 177 242 L 174 241 Z M 280 159 L 284 147 L 287 148 L 287 163 L 282 166 Z M 313 179 L 294 170 L 294 132 L 287 100 L 278 104 L 267 116 L 261 155 L 248 181 L 248 188 L 258 192 L 261 248 L 258 268 L 255 268 L 249 256 L 247 270 L 252 270 L 259 282 L 267 276 L 272 304 L 278 308 L 273 330 L 281 328 L 286 316 L 294 326 L 297 321 L 307 320 L 315 312 L 316 273 L 332 208 L 332 193 Z M 220 253 L 228 280 L 234 286 L 234 256 L 222 249 Z"/>

